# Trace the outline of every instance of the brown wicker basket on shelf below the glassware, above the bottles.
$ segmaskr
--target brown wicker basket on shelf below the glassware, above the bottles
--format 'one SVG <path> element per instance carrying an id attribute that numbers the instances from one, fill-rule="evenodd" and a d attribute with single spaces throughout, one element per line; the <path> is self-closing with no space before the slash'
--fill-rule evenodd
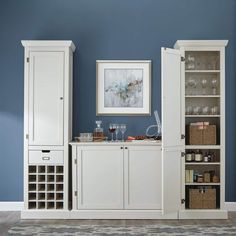
<path id="1" fill-rule="evenodd" d="M 189 126 L 190 145 L 216 145 L 216 126 Z"/>

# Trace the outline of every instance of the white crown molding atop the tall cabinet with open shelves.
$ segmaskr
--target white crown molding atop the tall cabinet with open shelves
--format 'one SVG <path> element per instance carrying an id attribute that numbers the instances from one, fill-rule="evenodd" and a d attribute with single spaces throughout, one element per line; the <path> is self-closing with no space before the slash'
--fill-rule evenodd
<path id="1" fill-rule="evenodd" d="M 228 44 L 228 40 L 177 40 L 174 48 L 181 47 L 225 47 Z"/>

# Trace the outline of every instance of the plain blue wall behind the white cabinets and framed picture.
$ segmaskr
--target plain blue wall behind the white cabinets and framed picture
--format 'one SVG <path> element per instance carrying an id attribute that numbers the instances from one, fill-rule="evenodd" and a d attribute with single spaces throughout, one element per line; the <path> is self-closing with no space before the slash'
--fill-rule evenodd
<path id="1" fill-rule="evenodd" d="M 160 48 L 178 39 L 229 39 L 226 49 L 226 200 L 236 201 L 235 0 L 1 0 L 0 201 L 23 199 L 22 39 L 71 39 L 74 135 L 96 120 L 96 59 L 151 59 L 152 111 L 160 110 Z M 143 134 L 153 117 L 102 117 Z M 106 126 L 107 127 L 107 126 Z"/>

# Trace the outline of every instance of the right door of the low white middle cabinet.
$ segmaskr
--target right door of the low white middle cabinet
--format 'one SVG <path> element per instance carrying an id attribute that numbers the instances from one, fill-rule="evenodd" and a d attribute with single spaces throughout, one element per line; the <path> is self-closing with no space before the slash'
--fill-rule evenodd
<path id="1" fill-rule="evenodd" d="M 125 208 L 161 209 L 161 148 L 125 149 Z"/>

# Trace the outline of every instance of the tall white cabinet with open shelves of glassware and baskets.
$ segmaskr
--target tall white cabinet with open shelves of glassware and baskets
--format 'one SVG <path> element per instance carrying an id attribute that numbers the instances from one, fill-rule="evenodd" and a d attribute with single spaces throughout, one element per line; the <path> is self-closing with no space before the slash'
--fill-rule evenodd
<path id="1" fill-rule="evenodd" d="M 186 136 L 185 153 L 188 156 L 200 152 L 203 156 L 210 155 L 204 162 L 182 159 L 180 218 L 227 218 L 227 211 L 224 210 L 227 43 L 227 40 L 179 40 L 175 44 L 175 50 L 184 59 L 181 63 L 181 124 L 182 134 Z M 209 125 L 213 130 L 210 135 L 209 131 L 205 131 L 209 130 Z M 204 138 L 201 138 L 201 127 L 204 129 Z M 190 129 L 195 131 L 190 132 Z M 205 136 L 207 132 L 208 136 Z M 201 175 L 203 181 L 198 181 Z M 211 205 L 194 204 L 191 193 L 196 192 L 196 189 L 202 198 L 210 189 L 213 193 L 211 199 L 215 200 L 206 199 L 211 201 Z"/>

